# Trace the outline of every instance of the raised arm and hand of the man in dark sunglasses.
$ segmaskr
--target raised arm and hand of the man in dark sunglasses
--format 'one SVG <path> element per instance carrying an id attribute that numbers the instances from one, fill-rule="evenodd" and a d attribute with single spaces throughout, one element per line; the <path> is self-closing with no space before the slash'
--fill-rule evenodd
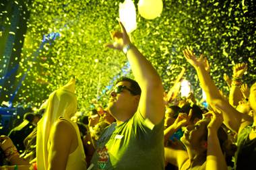
<path id="1" fill-rule="evenodd" d="M 121 22 L 121 32 L 112 34 L 112 44 L 106 46 L 122 50 L 131 65 L 131 70 L 137 83 L 141 87 L 141 97 L 139 99 L 139 112 L 143 118 L 148 118 L 153 124 L 158 124 L 164 118 L 164 88 L 160 76 L 151 63 L 131 44 L 129 36 Z"/>

